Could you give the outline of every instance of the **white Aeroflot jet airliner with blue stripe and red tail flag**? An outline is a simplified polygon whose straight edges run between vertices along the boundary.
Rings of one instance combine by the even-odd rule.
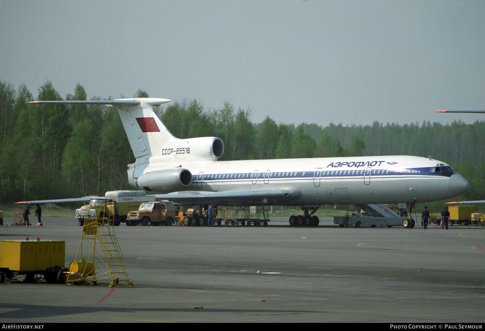
[[[136,158],[135,163],[128,165],[129,184],[184,205],[301,206],[307,220],[325,204],[407,203],[412,206],[415,202],[459,196],[470,188],[450,165],[430,157],[218,161],[224,152],[220,138],[178,139],[165,127],[153,106],[170,101],[130,98],[32,101],[31,104],[101,104],[118,109]],[[313,209],[311,213],[310,209]],[[294,222],[290,218],[290,224]]]

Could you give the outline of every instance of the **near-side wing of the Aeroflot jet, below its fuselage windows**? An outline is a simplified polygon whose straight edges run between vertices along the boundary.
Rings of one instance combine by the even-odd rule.
[[[247,191],[183,191],[169,194],[157,194],[157,198],[170,200],[181,204],[226,204],[231,202],[247,202],[251,204],[271,204],[273,199],[288,198],[294,199],[300,196],[300,192],[291,188],[272,188]]]

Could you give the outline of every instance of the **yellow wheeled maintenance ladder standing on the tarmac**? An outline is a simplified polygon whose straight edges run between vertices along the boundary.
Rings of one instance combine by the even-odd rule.
[[[93,213],[92,210],[95,212]],[[74,262],[69,265],[66,283],[110,279],[110,287],[116,285],[133,286],[123,264],[123,253],[114,234],[113,202],[89,207],[82,227],[81,244]],[[89,215],[96,214],[95,217]],[[83,249],[84,248],[84,249]],[[89,253],[86,255],[87,251]],[[102,255],[100,252],[102,252]],[[96,273],[95,261],[101,261],[108,271]],[[125,284],[120,284],[125,282]]]

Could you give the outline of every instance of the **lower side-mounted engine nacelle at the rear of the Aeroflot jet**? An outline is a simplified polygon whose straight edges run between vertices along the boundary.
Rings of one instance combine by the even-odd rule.
[[[155,170],[138,177],[135,184],[138,188],[150,192],[180,191],[192,184],[192,173],[181,168]]]

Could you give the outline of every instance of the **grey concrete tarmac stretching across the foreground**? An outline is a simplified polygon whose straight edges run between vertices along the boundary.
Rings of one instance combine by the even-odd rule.
[[[4,224],[10,224],[5,219]],[[0,240],[81,242],[72,218]],[[0,284],[0,322],[484,322],[485,227],[115,227],[133,287]],[[100,271],[106,269],[97,264]]]

